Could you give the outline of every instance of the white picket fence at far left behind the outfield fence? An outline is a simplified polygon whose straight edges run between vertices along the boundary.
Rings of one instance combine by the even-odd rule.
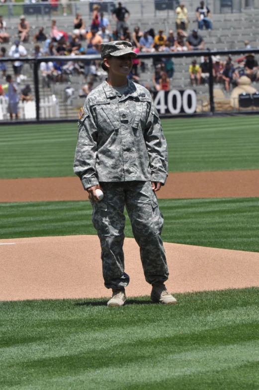
[[[19,101],[20,119],[36,119],[35,101]],[[59,102],[55,95],[40,99],[40,118],[59,118]],[[0,96],[0,120],[9,119],[8,98]]]

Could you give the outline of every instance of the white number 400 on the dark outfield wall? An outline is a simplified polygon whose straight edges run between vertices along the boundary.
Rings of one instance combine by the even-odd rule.
[[[172,90],[154,92],[154,105],[159,114],[193,114],[196,111],[197,97],[193,90]]]

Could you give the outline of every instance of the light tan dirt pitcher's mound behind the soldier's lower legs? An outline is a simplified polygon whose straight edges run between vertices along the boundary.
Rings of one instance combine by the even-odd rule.
[[[170,292],[259,286],[259,253],[165,243]],[[102,280],[97,236],[0,240],[0,300],[110,296]],[[146,295],[139,248],[124,243],[128,296]]]

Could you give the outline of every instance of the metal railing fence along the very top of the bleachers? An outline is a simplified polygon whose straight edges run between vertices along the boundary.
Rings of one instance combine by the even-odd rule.
[[[170,16],[173,14],[175,7],[179,4],[179,0],[124,0],[123,5],[136,17],[148,16]],[[211,12],[216,13],[230,13],[241,12],[243,8],[258,8],[257,0],[207,0],[206,4],[211,9]],[[101,1],[69,1],[66,8],[68,15],[75,15],[81,12],[84,16],[90,17],[92,4],[99,3],[103,12],[110,13],[110,11],[117,6],[117,1],[101,0]],[[185,0],[184,4],[190,14],[193,14],[196,7],[200,4],[200,0]],[[59,0],[49,1],[25,1],[12,2],[6,0],[0,4],[0,14],[4,17],[17,18],[21,14],[26,17],[34,17],[36,19],[49,19],[52,16],[63,15],[63,6]]]

